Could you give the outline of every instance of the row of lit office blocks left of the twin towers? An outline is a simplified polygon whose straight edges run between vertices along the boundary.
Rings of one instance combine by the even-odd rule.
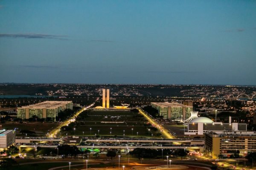
[[[53,118],[66,109],[73,109],[72,101],[46,101],[35,105],[18,108],[17,118],[29,119],[32,116],[38,118]]]

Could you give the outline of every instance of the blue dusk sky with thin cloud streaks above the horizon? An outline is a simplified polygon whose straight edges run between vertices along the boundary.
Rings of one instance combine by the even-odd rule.
[[[256,85],[256,0],[0,0],[0,82]]]

